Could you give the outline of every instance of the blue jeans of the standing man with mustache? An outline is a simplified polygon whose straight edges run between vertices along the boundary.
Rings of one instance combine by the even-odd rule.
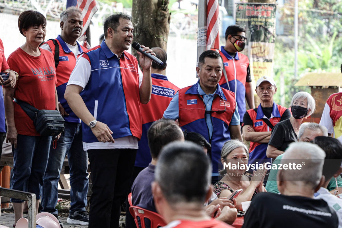
[[[57,141],[56,149],[53,149],[51,144],[48,166],[43,178],[42,212],[58,214],[58,210],[55,209],[58,180],[66,155],[70,167],[70,213],[86,210],[88,154],[82,146],[81,124],[65,122],[64,135]]]

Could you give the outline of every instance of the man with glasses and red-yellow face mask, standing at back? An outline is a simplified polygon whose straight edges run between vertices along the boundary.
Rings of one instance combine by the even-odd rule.
[[[226,44],[221,46],[220,55],[223,58],[223,72],[219,84],[235,93],[236,103],[242,117],[246,112],[246,102],[249,108],[254,108],[252,78],[248,57],[241,52],[247,42],[246,29],[239,25],[231,25],[226,29]],[[228,80],[228,83],[227,83]]]

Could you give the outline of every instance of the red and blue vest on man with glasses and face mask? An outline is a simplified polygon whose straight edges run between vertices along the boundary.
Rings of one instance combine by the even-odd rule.
[[[242,117],[244,117],[246,112],[246,78],[249,60],[246,55],[240,52],[237,52],[233,58],[223,49],[223,46],[221,46],[221,51],[219,53],[223,58],[223,67],[227,72],[230,91],[235,93],[240,122],[242,122]],[[219,84],[222,88],[228,90],[223,72]]]

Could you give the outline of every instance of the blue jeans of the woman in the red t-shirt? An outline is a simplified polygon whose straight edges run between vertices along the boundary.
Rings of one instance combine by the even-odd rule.
[[[11,189],[32,192],[36,199],[40,199],[52,136],[17,137],[17,148],[13,151],[13,176]],[[23,200],[11,199],[11,202],[20,203]]]

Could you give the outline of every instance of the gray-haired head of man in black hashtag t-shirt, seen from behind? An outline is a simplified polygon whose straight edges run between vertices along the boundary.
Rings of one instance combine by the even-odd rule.
[[[291,143],[281,159],[281,164],[289,161],[302,164],[301,169],[283,169],[279,171],[278,180],[292,181],[295,185],[308,185],[315,189],[322,177],[325,152],[316,144],[307,142]],[[301,159],[301,160],[299,160]]]

